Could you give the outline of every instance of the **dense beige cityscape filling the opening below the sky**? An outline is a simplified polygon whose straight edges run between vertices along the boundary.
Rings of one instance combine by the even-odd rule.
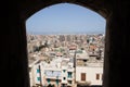
[[[104,40],[104,34],[28,34],[30,87],[102,87]]]

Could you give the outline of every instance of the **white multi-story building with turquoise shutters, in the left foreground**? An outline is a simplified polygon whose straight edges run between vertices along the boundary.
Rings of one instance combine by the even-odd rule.
[[[73,87],[75,84],[73,61],[68,58],[55,58],[50,64],[39,60],[29,69],[31,87],[50,84],[55,87]]]

